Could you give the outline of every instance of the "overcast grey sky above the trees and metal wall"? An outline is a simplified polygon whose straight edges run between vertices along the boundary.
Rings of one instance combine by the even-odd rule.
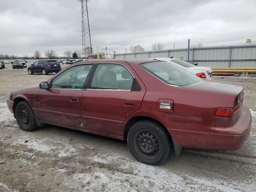
[[[81,50],[78,0],[0,0],[0,54]],[[244,44],[256,40],[256,0],[90,0],[92,46],[129,52],[131,44],[151,50]]]

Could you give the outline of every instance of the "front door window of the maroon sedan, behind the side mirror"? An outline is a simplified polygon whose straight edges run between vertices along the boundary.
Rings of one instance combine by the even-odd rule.
[[[92,64],[69,68],[52,80],[51,88],[84,89],[84,83],[91,68]]]

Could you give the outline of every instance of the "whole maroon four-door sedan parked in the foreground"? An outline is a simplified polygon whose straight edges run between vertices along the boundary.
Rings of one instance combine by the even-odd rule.
[[[127,140],[133,156],[150,165],[182,148],[241,148],[252,124],[242,102],[240,86],[148,59],[72,64],[7,101],[25,131],[52,124]]]

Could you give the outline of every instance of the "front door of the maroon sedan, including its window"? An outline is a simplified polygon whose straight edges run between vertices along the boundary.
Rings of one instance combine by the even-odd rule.
[[[50,83],[49,89],[38,93],[37,107],[42,120],[71,127],[79,127],[81,99],[92,64],[68,68]]]

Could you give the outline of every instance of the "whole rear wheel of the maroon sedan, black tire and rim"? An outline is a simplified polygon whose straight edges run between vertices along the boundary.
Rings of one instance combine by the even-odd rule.
[[[165,162],[172,147],[168,132],[158,123],[149,120],[136,122],[130,128],[127,143],[132,155],[149,165]]]

